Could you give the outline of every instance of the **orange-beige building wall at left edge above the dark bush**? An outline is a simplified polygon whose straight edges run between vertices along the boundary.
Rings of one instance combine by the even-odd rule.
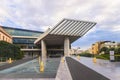
[[[12,37],[0,27],[0,41],[12,43]]]

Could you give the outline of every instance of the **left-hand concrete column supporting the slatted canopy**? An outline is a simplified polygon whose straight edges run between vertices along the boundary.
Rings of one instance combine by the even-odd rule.
[[[47,48],[44,40],[41,40],[41,53],[42,61],[44,62],[47,58]]]

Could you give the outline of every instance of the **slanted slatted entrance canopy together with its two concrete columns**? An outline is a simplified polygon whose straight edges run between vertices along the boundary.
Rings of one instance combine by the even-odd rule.
[[[52,29],[44,32],[34,43],[41,46],[42,59],[47,57],[49,50],[61,50],[64,56],[69,56],[71,44],[95,25],[95,22],[63,19]]]

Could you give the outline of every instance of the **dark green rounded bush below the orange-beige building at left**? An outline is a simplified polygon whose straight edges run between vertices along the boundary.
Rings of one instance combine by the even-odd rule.
[[[7,57],[12,59],[21,59],[24,54],[20,51],[20,48],[14,44],[10,44],[5,41],[0,41],[0,57]]]

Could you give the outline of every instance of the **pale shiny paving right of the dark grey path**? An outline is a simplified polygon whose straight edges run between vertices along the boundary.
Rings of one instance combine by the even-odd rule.
[[[72,58],[108,77],[110,80],[120,80],[120,62],[110,62],[109,60],[97,59],[97,62],[93,63],[92,58],[80,57],[80,60],[76,57]]]

